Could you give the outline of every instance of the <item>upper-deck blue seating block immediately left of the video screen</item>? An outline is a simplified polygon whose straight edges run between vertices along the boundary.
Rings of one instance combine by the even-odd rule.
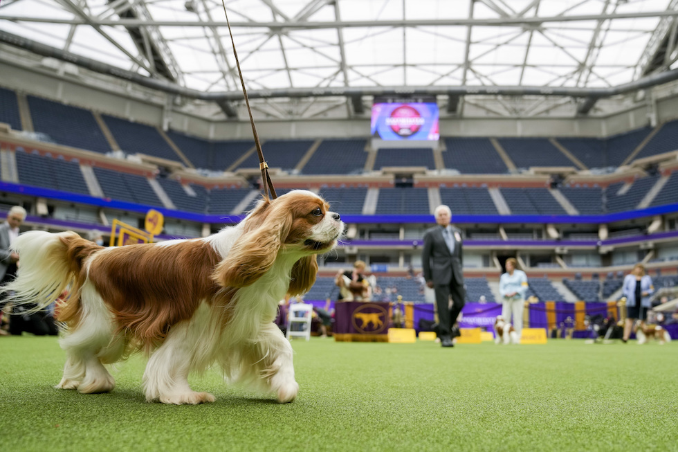
[[[323,140],[302,168],[303,174],[356,174],[363,171],[365,140]]]

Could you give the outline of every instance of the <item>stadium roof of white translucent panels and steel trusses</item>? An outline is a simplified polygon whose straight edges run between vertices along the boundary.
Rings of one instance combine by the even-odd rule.
[[[450,116],[605,115],[678,79],[678,0],[225,6],[259,118],[363,117],[379,95],[437,96]],[[207,116],[243,104],[221,0],[1,0],[0,50]]]

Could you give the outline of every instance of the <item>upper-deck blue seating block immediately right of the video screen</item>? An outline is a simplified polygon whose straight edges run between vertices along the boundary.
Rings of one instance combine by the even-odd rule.
[[[461,174],[504,174],[506,163],[497,154],[489,138],[445,138],[445,168]]]

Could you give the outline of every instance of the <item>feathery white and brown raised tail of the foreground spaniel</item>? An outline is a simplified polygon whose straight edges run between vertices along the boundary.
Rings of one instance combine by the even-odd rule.
[[[86,258],[100,249],[102,246],[71,231],[52,234],[32,230],[21,234],[12,244],[12,250],[19,254],[17,278],[1,287],[0,293],[14,305],[30,304],[29,311],[39,311],[68,288],[70,304],[73,297],[79,298],[86,278]]]

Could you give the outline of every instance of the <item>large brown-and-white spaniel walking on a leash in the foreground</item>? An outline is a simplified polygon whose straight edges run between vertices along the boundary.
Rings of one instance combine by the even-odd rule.
[[[306,190],[259,201],[237,226],[201,239],[104,248],[73,232],[34,230],[13,244],[17,278],[2,289],[16,303],[55,302],[66,324],[62,381],[56,388],[109,392],[107,364],[141,350],[147,401],[201,404],[208,392],[191,372],[219,365],[226,381],[252,383],[295,399],[292,347],[273,323],[286,293],[306,293],[316,255],[337,244],[344,224]]]

